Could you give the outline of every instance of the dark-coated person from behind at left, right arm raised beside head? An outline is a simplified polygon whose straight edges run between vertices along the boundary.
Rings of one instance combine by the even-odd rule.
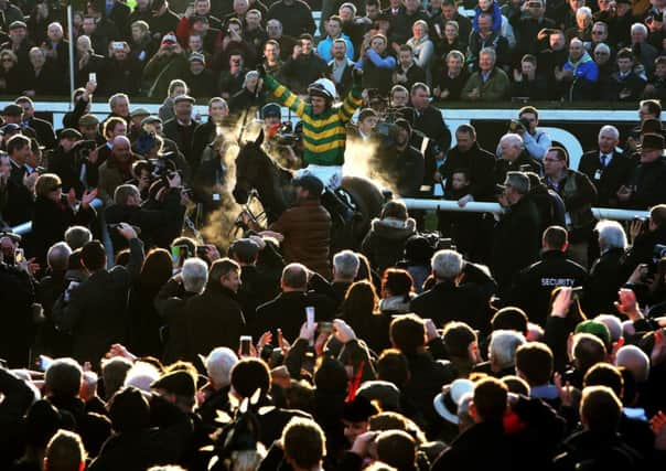
[[[72,356],[79,363],[96,364],[114,343],[125,343],[127,339],[129,289],[143,264],[143,245],[129,224],[119,224],[117,231],[129,243],[128,265],[107,270],[104,246],[99,240],[88,242],[80,253],[88,279],[76,288],[67,288],[60,314],[54,309],[58,328],[73,334]]]

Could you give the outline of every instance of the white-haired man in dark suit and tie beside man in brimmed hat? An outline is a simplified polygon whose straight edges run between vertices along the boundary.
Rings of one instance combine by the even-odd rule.
[[[583,153],[578,171],[588,175],[597,188],[597,204],[617,207],[617,190],[629,183],[634,162],[617,151],[620,132],[606,125],[599,131],[599,150]]]

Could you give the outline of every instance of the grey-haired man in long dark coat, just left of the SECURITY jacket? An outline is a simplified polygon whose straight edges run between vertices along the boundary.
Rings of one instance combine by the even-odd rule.
[[[508,295],[512,277],[539,257],[539,212],[529,199],[529,178],[522,172],[507,172],[500,204],[509,208],[493,235],[491,269],[498,291]]]

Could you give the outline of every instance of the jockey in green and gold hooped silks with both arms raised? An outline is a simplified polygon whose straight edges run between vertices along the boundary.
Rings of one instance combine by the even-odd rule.
[[[301,100],[270,74],[265,74],[265,87],[278,103],[289,107],[303,122],[303,161],[305,168],[297,176],[310,173],[319,178],[330,190],[342,183],[342,165],[346,146],[346,122],[361,106],[361,71],[354,71],[353,86],[341,105],[334,105],[335,85],[320,78],[308,87],[310,104]]]

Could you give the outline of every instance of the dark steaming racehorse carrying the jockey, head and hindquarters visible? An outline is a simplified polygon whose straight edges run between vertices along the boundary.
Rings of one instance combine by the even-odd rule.
[[[255,141],[247,141],[236,157],[236,185],[233,194],[238,204],[246,204],[253,191],[264,206],[268,224],[280,217],[296,200],[291,185],[293,172],[278,164],[261,148],[264,131]],[[357,217],[345,223],[345,227],[335,227],[332,234],[332,248],[357,248],[369,229],[370,222],[382,211],[384,195],[369,180],[358,176],[345,176],[342,189],[355,206]]]

